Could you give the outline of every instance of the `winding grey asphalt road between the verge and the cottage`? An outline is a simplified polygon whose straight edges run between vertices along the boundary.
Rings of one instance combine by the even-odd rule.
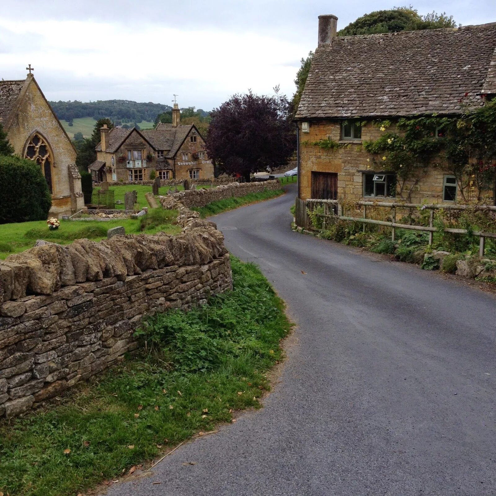
[[[292,232],[289,189],[212,219],[298,324],[264,408],[108,494],[494,496],[494,296]]]

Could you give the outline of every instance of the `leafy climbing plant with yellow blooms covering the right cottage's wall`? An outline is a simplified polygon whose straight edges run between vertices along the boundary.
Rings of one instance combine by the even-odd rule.
[[[433,165],[455,176],[464,202],[488,200],[485,194],[496,181],[496,101],[457,117],[402,118],[396,124],[398,132],[388,130],[390,121],[372,124],[382,134],[363,142],[373,155],[369,167],[396,173],[400,196],[410,198],[427,166]]]

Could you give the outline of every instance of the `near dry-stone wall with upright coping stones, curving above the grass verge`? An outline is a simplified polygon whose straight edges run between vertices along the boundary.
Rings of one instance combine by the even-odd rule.
[[[183,232],[46,244],[0,261],[0,417],[18,416],[134,350],[143,316],[232,288],[213,222],[176,201]]]

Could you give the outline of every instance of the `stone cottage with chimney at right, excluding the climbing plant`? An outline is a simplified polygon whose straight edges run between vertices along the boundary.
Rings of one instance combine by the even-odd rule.
[[[336,16],[319,16],[318,47],[296,113],[299,197],[456,201],[456,178],[442,167],[425,164],[400,191],[396,174],[371,162],[362,143],[380,136],[377,121],[388,120],[390,131],[402,117],[455,117],[491,99],[496,23],[345,37],[336,31]],[[438,129],[431,135],[443,137]]]

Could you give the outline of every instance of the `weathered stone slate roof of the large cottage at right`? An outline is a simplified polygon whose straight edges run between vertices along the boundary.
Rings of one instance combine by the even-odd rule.
[[[457,114],[494,92],[496,23],[336,37],[315,50],[296,119]]]

